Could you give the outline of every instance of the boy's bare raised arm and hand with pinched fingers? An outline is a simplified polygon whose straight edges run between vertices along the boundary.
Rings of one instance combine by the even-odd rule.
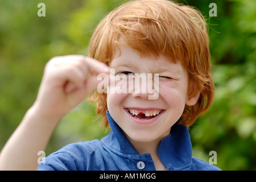
[[[89,57],[54,57],[47,63],[37,99],[0,154],[0,170],[36,170],[38,151],[45,150],[61,118],[97,89],[97,76],[109,73]]]

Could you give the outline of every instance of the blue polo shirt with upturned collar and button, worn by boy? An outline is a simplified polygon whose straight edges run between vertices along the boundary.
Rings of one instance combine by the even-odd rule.
[[[138,154],[107,111],[111,131],[101,140],[69,144],[47,156],[38,170],[155,170],[150,154]],[[189,131],[175,124],[163,138],[158,155],[167,170],[219,170],[192,156]]]

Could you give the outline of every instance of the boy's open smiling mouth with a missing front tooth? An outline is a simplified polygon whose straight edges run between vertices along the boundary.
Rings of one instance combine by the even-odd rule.
[[[149,109],[149,110],[139,110],[127,108],[130,115],[134,118],[139,118],[142,120],[151,119],[157,117],[163,110],[162,109]]]

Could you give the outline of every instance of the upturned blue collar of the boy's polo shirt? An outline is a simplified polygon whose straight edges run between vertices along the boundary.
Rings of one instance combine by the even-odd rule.
[[[106,111],[107,119],[111,127],[108,143],[115,150],[127,155],[139,155],[130,141],[125,137],[121,128]],[[167,167],[180,169],[190,164],[192,158],[192,146],[189,130],[186,126],[175,123],[171,127],[170,134],[161,140],[158,147],[158,155],[162,163]]]

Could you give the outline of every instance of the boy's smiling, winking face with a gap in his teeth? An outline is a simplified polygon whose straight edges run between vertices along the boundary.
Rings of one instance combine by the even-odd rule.
[[[138,90],[133,93],[107,93],[109,113],[129,140],[161,140],[169,135],[171,126],[181,117],[185,104],[194,105],[196,102],[187,97],[186,69],[180,61],[174,64],[164,56],[158,59],[154,56],[141,57],[129,46],[121,46],[120,51],[116,49],[110,64],[110,68],[115,69],[115,75],[159,73],[159,94],[157,99],[149,100],[149,92],[138,93]],[[141,83],[139,91],[145,89],[143,86],[146,87],[146,84]]]

